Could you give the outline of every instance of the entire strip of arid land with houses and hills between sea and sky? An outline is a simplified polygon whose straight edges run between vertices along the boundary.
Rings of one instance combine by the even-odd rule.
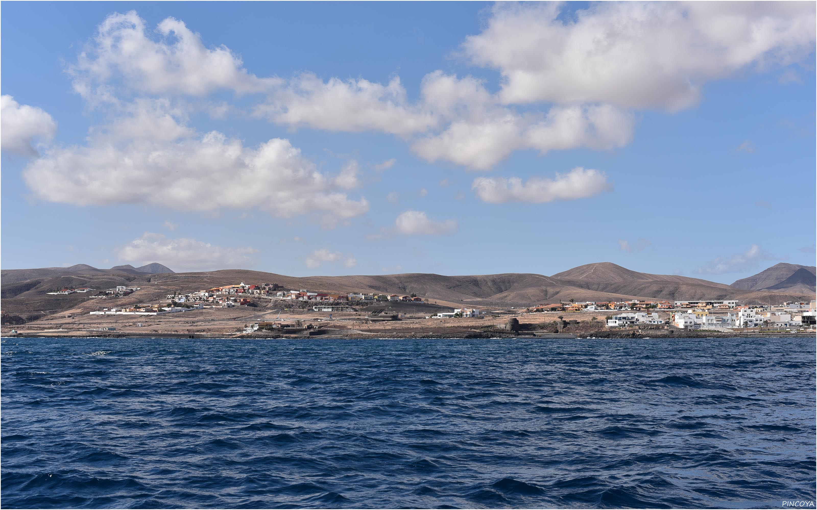
[[[89,268],[80,269],[96,270]],[[556,297],[538,303],[525,301],[528,290],[512,299],[507,295],[500,299],[477,297],[483,285],[481,278],[488,279],[486,295],[496,288],[509,288],[507,282],[494,277],[425,279],[424,275],[406,275],[408,278],[364,277],[361,282],[315,277],[293,282],[291,277],[272,273],[241,271],[235,276],[208,276],[167,272],[135,278],[119,274],[55,277],[51,286],[39,284],[38,295],[47,299],[32,294],[30,311],[24,304],[21,316],[3,313],[4,332],[14,327],[13,334],[19,335],[66,335],[71,331],[80,335],[102,332],[209,338],[803,335],[815,331],[817,315],[810,297],[814,273],[792,264],[778,264],[752,277],[757,281],[748,279],[747,283],[763,287],[789,282],[796,290],[789,294],[770,291],[747,295],[739,286],[732,293],[724,289],[728,286],[694,281],[681,282],[681,291],[663,293],[671,296],[663,299],[637,297],[636,293],[638,286],[660,292],[664,282],[660,275],[635,273],[632,277],[631,271],[615,264],[589,264],[556,275],[564,278],[564,283],[555,286]],[[573,286],[588,274],[595,274],[600,282],[632,282],[627,285],[633,288],[627,294],[617,294]],[[410,282],[412,279],[416,282]],[[523,289],[535,288],[538,283],[535,279],[528,282],[525,275],[515,275],[514,279]],[[69,282],[75,286],[65,286]],[[31,294],[25,288],[30,284],[19,285],[20,290],[15,291]],[[673,281],[672,286],[676,285]],[[718,294],[720,299],[679,299],[687,290],[688,295]],[[532,295],[550,291],[537,290]],[[605,299],[593,299],[594,293]]]

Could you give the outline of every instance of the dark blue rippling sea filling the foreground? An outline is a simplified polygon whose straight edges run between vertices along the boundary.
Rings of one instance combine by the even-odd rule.
[[[815,500],[813,338],[3,339],[0,370],[2,508]]]

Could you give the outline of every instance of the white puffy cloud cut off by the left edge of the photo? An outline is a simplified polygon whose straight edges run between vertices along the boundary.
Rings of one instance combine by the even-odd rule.
[[[56,122],[43,109],[20,104],[11,95],[0,97],[0,147],[4,153],[37,156],[34,140],[51,140]]]

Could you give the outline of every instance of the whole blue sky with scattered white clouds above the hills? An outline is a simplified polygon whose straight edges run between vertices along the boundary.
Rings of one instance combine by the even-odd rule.
[[[3,268],[815,263],[813,3],[2,14]]]

